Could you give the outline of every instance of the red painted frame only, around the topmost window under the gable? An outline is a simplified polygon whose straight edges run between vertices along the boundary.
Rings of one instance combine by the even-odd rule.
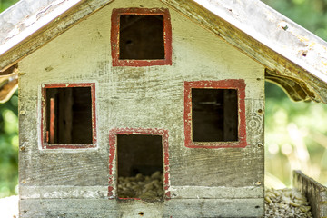
[[[119,28],[120,15],[163,15],[164,59],[154,60],[120,60]],[[112,13],[111,53],[113,66],[151,66],[172,64],[172,25],[169,10],[166,8],[117,8]]]

